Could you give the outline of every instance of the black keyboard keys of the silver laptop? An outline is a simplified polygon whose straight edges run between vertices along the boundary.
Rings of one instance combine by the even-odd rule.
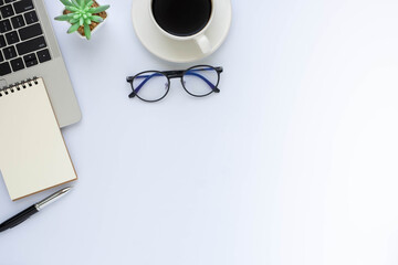
[[[32,0],[0,0],[0,76],[49,60]]]

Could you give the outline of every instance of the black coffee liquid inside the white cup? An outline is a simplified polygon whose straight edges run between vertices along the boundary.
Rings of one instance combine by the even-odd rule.
[[[153,0],[153,13],[158,25],[177,36],[201,31],[211,15],[211,0]]]

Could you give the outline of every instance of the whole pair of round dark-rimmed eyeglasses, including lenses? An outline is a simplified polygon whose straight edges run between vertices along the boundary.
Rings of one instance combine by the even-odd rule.
[[[184,89],[191,96],[208,96],[220,92],[218,85],[221,73],[222,67],[210,65],[197,65],[180,71],[146,71],[127,77],[133,89],[128,97],[137,96],[148,103],[158,102],[169,92],[171,78],[181,78]]]

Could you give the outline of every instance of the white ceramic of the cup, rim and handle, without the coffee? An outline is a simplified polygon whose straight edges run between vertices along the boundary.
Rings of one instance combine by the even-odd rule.
[[[189,0],[187,0],[189,1]],[[195,41],[196,44],[199,46],[200,51],[202,52],[202,54],[208,54],[212,51],[212,45],[209,41],[209,38],[206,35],[207,30],[211,26],[211,22],[213,21],[213,17],[214,17],[214,8],[216,4],[213,4],[213,1],[217,0],[210,0],[211,1],[211,13],[210,13],[210,18],[207,22],[207,24],[205,25],[203,29],[201,29],[199,32],[192,34],[192,35],[187,35],[187,36],[179,36],[179,35],[174,35],[167,31],[165,31],[156,21],[155,17],[154,17],[154,12],[153,12],[153,0],[150,0],[150,4],[149,4],[149,15],[151,21],[154,22],[155,26],[158,29],[158,31],[164,34],[165,36],[171,39],[171,40],[176,40],[176,41],[181,41],[181,42],[186,42],[186,41]]]

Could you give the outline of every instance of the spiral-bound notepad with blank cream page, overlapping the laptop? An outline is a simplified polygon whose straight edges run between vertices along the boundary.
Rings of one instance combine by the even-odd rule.
[[[0,171],[11,200],[77,178],[42,78],[0,89]]]

